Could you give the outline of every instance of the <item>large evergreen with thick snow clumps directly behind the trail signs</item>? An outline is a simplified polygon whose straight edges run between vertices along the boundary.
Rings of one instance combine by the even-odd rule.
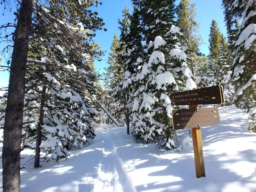
[[[148,44],[146,52],[151,54],[144,63],[142,60],[137,63],[139,85],[134,90],[132,133],[137,140],[154,141],[158,147],[173,149],[176,132],[172,129],[173,106],[168,95],[196,88],[185,62],[186,48],[179,43],[182,34],[173,25],[174,1],[133,3],[145,12],[141,14],[143,33]]]

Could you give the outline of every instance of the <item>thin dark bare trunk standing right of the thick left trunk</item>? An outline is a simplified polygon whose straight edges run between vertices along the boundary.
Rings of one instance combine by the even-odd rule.
[[[44,106],[45,106],[45,91],[46,87],[43,85],[42,88],[42,94],[41,94],[41,105],[40,105],[40,113],[39,113],[39,123],[37,125],[37,137],[36,137],[36,154],[35,154],[35,167],[40,167],[40,145],[41,145],[41,140],[42,140],[42,125],[43,125],[43,120],[44,120]]]

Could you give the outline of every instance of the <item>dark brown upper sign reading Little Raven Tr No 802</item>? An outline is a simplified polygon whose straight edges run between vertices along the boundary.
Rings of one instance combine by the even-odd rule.
[[[172,105],[200,105],[224,103],[223,88],[216,85],[170,94]]]

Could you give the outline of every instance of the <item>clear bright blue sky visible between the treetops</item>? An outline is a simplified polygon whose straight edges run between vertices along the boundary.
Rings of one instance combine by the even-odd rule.
[[[114,33],[116,33],[118,36],[120,35],[117,20],[118,18],[122,18],[122,9],[124,8],[125,4],[127,4],[128,8],[130,8],[130,12],[132,13],[132,3],[130,0],[101,0],[101,2],[101,6],[95,8],[93,7],[92,10],[97,11],[99,16],[103,18],[106,24],[105,28],[107,28],[108,31],[97,31],[94,41],[101,46],[101,50],[109,52]],[[176,4],[179,4],[179,2],[180,0],[177,0]],[[199,34],[202,36],[205,42],[205,44],[200,47],[200,50],[202,53],[208,55],[208,38],[212,19],[216,20],[221,33],[226,36],[226,27],[223,22],[224,16],[223,10],[221,9],[221,0],[190,0],[190,2],[196,3],[196,21],[201,23]],[[9,20],[12,20],[13,18],[11,15],[3,16],[2,10],[3,6],[0,6],[0,25],[10,22]],[[3,48],[4,44],[0,44],[1,51]],[[108,60],[108,57],[109,55],[105,54],[105,56],[102,57],[102,61],[95,61],[94,65],[100,72],[104,72],[103,68],[108,66],[107,61],[104,61]],[[1,65],[6,65],[5,61],[2,61]],[[0,86],[7,86],[8,80],[8,72],[0,72]],[[2,93],[0,92],[0,94]]]

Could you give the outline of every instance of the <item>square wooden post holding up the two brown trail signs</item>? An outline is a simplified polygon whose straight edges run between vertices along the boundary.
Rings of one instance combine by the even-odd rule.
[[[195,108],[197,108],[197,105],[189,105],[189,109]],[[191,128],[191,130],[195,157],[196,177],[205,177],[205,163],[203,155],[201,129],[200,127],[193,127]]]

